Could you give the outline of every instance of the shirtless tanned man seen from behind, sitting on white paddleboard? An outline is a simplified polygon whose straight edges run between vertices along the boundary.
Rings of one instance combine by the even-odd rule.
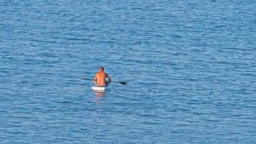
[[[109,81],[106,81],[106,77]],[[99,87],[107,87],[111,83],[111,78],[104,72],[104,67],[99,68],[99,72],[96,73],[94,78],[94,84]]]

